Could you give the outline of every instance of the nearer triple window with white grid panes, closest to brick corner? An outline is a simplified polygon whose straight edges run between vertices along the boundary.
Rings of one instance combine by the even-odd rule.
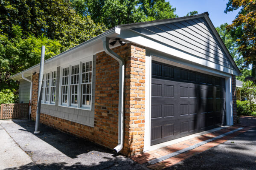
[[[92,67],[93,62],[87,61],[61,68],[60,105],[82,109],[91,108]]]

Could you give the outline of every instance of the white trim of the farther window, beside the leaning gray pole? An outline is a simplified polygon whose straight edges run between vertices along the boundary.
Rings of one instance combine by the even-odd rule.
[[[55,70],[48,70],[48,71],[45,71],[44,72],[44,79],[43,79],[43,83],[44,83],[44,89],[43,89],[43,91],[44,91],[44,96],[43,96],[43,99],[41,99],[41,104],[45,104],[45,105],[55,105],[55,102],[51,102],[51,97],[52,97],[52,72],[54,72],[54,71],[56,71],[56,69]],[[45,91],[45,85],[46,85],[46,74],[50,74],[49,75],[49,99],[48,99],[48,102],[47,101],[45,101],[45,95],[46,95],[46,91]],[[57,71],[56,71],[56,81],[57,81]],[[56,83],[55,83],[55,87],[56,87]],[[56,100],[56,89],[55,89],[55,100]]]

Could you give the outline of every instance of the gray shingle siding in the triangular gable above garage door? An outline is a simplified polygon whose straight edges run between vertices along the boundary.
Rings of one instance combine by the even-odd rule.
[[[186,53],[234,69],[204,18],[134,28],[141,34]]]

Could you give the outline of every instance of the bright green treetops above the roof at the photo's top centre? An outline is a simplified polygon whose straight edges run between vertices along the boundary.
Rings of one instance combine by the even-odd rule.
[[[177,17],[176,8],[165,0],[71,0],[71,3],[78,14],[90,16],[107,28]]]

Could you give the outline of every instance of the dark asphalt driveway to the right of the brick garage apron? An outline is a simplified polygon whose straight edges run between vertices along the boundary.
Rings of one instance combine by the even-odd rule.
[[[254,127],[223,144],[166,169],[256,170],[256,117],[241,116],[239,125]]]

